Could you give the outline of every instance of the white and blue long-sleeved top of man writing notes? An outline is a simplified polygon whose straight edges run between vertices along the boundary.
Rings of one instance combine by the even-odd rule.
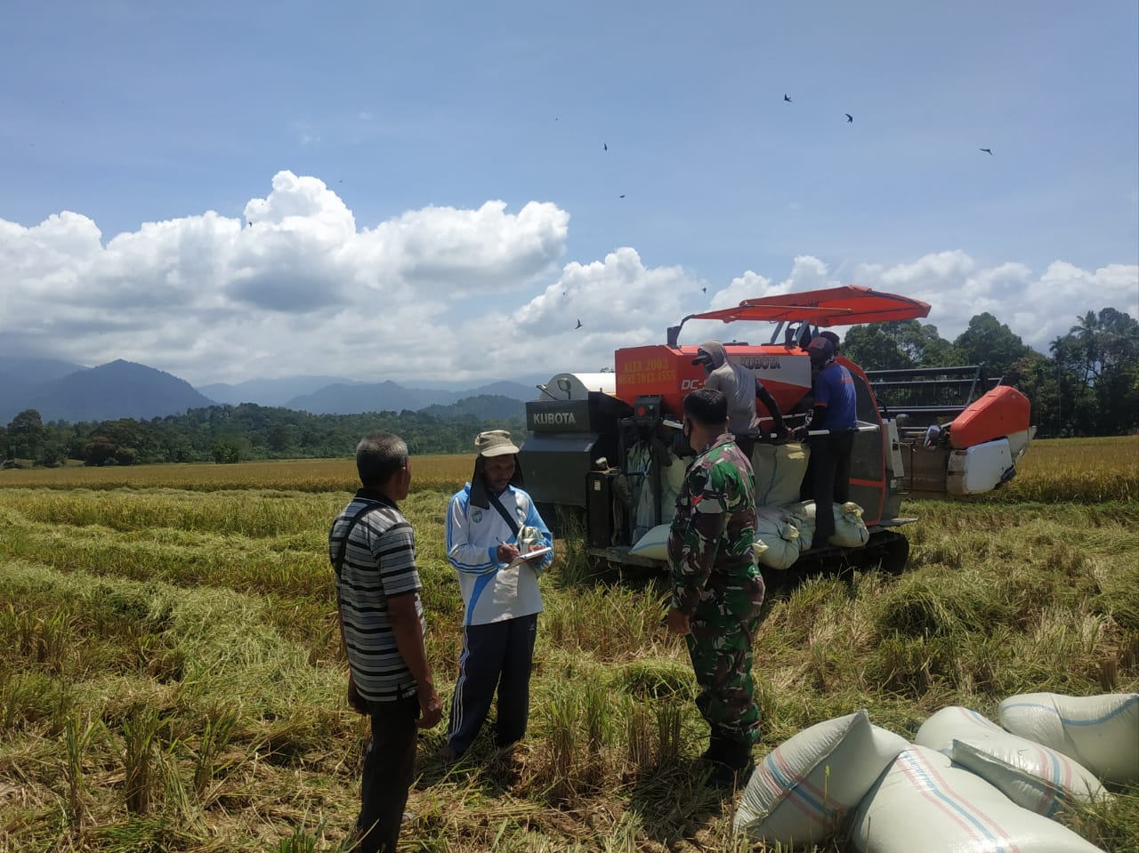
[[[542,542],[552,548],[554,536],[526,492],[507,486],[498,499],[507,512],[514,512],[519,528],[536,527]],[[451,498],[446,514],[446,558],[459,573],[459,589],[466,605],[465,625],[485,625],[542,612],[538,574],[528,565],[508,568],[508,564],[499,563],[495,552],[500,542],[517,544],[518,540],[493,506],[484,509],[470,503],[470,483],[467,483]],[[550,551],[539,567],[544,569],[552,561]]]

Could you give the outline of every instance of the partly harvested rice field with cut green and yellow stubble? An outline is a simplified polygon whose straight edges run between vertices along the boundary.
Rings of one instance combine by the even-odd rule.
[[[461,602],[443,514],[470,464],[413,459],[404,505],[444,699]],[[0,471],[0,852],[342,848],[366,725],[325,538],[352,489],[351,460]],[[1016,692],[1139,690],[1139,438],[1036,442],[1009,489],[904,511],[903,575],[770,597],[761,753],[862,707],[911,737],[950,704],[992,719]],[[699,781],[663,587],[558,551],[518,764],[483,740],[444,772],[428,732],[401,850],[751,850]],[[1113,793],[1062,819],[1139,850],[1139,786]]]

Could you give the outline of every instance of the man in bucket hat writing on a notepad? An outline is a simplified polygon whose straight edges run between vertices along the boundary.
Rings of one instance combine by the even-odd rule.
[[[526,733],[530,670],[542,596],[538,576],[554,559],[554,538],[522,489],[518,448],[505,429],[480,433],[470,482],[446,515],[446,558],[459,575],[465,606],[459,679],[446,745],[454,761],[482,729],[498,690],[494,745]],[[540,550],[541,549],[541,550]],[[538,556],[526,559],[524,555]]]

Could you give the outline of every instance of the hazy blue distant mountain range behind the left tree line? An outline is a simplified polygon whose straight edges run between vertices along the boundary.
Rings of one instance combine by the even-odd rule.
[[[130,361],[95,368],[50,359],[0,356],[0,426],[35,409],[44,421],[69,423],[180,415],[214,403],[256,403],[313,415],[426,410],[440,418],[475,415],[514,418],[534,399],[532,386],[498,382],[467,389],[410,388],[394,382],[353,383],[337,377],[252,379],[194,388],[185,379]]]

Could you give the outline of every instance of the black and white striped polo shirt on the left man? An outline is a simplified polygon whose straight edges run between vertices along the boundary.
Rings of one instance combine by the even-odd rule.
[[[413,695],[416,680],[395,645],[388,596],[415,594],[416,614],[426,631],[415,532],[391,500],[361,489],[333,523],[328,556],[335,568],[349,524],[369,506],[349,533],[344,563],[336,575],[336,596],[357,690],[370,702],[392,702]]]

